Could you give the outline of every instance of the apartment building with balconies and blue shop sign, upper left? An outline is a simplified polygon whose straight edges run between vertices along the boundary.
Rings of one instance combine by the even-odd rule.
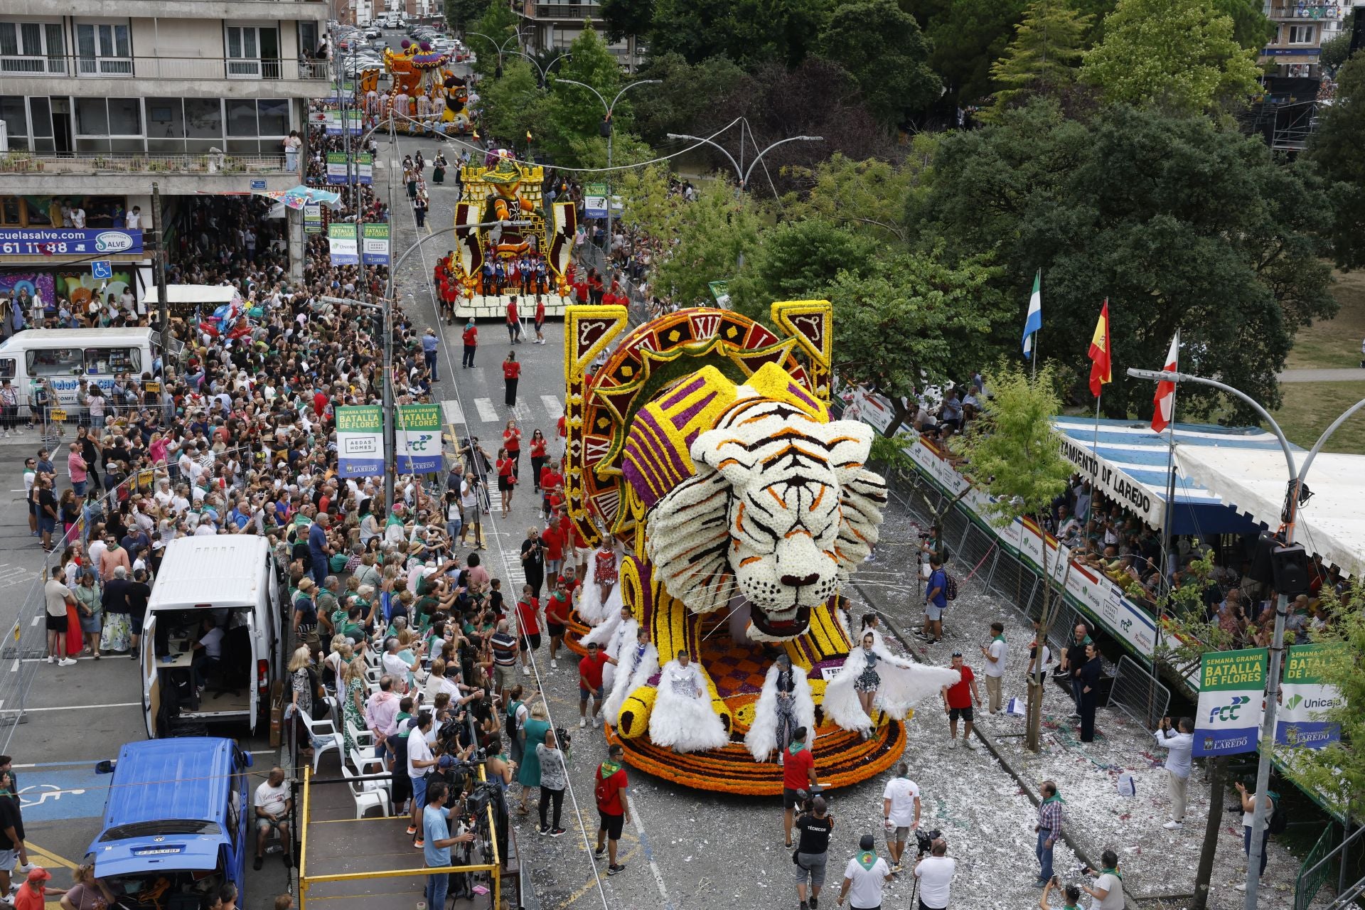
[[[329,0],[7,4],[0,295],[12,266],[97,254],[130,271],[147,265],[143,235],[160,226],[153,181],[169,233],[206,199],[296,186],[283,142],[306,132],[308,101],[330,93],[325,49],[317,56],[329,10]],[[63,207],[83,210],[85,226],[63,222]]]

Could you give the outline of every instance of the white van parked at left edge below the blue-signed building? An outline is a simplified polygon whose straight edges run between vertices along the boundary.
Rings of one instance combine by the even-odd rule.
[[[52,379],[57,401],[72,407],[81,379],[108,394],[117,374],[152,372],[153,336],[152,329],[27,329],[0,345],[0,379],[18,389],[20,405],[31,378]]]

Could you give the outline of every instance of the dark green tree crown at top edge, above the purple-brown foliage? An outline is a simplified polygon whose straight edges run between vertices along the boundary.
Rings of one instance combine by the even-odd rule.
[[[830,7],[830,0],[655,0],[650,53],[794,67],[811,52]]]

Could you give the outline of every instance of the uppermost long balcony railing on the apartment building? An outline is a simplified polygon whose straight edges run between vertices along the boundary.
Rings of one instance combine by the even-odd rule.
[[[90,57],[0,56],[3,76],[67,76],[76,79],[303,79],[329,78],[326,60],[258,57]]]

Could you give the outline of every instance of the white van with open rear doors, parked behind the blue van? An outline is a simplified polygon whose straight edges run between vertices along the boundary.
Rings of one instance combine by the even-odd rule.
[[[283,578],[269,542],[257,535],[177,538],[167,544],[142,625],[142,709],[147,735],[180,722],[244,722],[253,731],[270,709],[270,686],[285,675]],[[195,686],[194,644],[222,630],[222,660]]]

